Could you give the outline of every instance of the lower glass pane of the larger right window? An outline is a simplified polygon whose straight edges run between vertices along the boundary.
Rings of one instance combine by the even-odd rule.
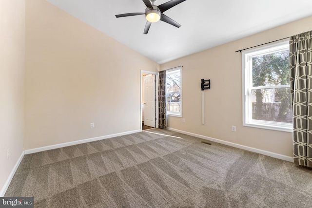
[[[253,119],[292,123],[290,88],[252,90]]]

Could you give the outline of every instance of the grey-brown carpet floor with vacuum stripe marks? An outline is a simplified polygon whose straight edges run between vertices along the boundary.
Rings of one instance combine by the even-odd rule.
[[[36,208],[311,208],[312,170],[152,129],[27,154],[5,196]]]

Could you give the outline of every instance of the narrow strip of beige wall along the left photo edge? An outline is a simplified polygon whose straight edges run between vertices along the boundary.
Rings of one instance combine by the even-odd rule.
[[[25,1],[0,1],[0,188],[23,152]],[[10,157],[7,158],[7,149]]]

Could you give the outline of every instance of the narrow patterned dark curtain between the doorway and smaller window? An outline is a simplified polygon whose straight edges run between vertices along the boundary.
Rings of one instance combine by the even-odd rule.
[[[166,71],[159,72],[158,89],[159,109],[158,109],[158,128],[166,128]]]

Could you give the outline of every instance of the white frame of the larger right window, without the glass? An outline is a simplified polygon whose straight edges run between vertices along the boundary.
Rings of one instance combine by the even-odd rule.
[[[290,85],[273,85],[253,87],[252,58],[280,51],[289,50],[289,41],[282,41],[268,46],[242,52],[242,97],[243,97],[243,126],[269,129],[282,132],[292,132],[292,123],[264,121],[252,118],[252,90],[290,88]]]

